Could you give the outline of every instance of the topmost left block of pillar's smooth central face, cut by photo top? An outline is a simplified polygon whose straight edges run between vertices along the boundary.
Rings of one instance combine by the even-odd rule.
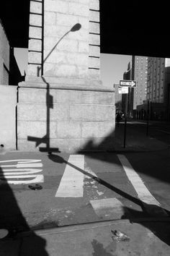
[[[68,2],[61,0],[46,0],[44,9],[48,12],[68,13]]]

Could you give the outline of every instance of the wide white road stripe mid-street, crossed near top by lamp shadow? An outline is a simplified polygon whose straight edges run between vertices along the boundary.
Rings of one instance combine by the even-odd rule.
[[[83,197],[84,174],[69,163],[84,170],[84,155],[70,155],[55,197]]]

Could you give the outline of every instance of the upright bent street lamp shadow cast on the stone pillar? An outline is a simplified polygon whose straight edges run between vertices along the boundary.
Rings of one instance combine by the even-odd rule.
[[[45,63],[45,61],[47,61],[48,57],[50,56],[50,54],[52,54],[52,52],[55,50],[56,46],[58,46],[58,43],[61,42],[61,40],[68,35],[68,33],[70,32],[76,32],[78,30],[81,29],[81,24],[76,23],[76,25],[73,25],[73,27],[71,27],[71,30],[69,30],[68,32],[66,32],[61,38],[60,40],[58,40],[57,43],[55,43],[55,46],[53,46],[53,48],[51,49],[51,51],[49,52],[48,56],[45,57],[44,61],[42,62],[42,67],[37,67],[37,77],[40,76],[40,70],[42,69],[43,71],[43,64]],[[43,72],[42,72],[43,74]],[[47,85],[46,86],[46,105],[47,105],[47,116],[46,116],[46,123],[47,123],[47,127],[46,127],[46,135],[42,138],[39,137],[32,137],[32,136],[27,136],[27,140],[29,141],[34,141],[36,142],[35,147],[37,148],[38,145],[40,145],[41,143],[45,143],[46,144],[46,148],[40,148],[40,151],[45,151],[45,152],[53,152],[53,151],[59,151],[58,148],[50,148],[50,108],[53,108],[53,95],[50,95],[50,85],[49,83],[45,80],[45,77],[41,76],[42,81]]]

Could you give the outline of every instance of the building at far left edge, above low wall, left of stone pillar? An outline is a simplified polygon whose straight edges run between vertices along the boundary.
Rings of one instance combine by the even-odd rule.
[[[0,85],[18,85],[22,75],[14,57],[14,48],[10,46],[0,20]]]

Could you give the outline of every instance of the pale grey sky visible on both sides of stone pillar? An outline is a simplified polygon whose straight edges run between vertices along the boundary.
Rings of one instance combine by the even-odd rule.
[[[14,56],[21,74],[24,75],[24,71],[27,74],[27,48],[14,48]],[[112,88],[114,84],[119,83],[131,59],[132,56],[130,55],[100,54],[101,80],[103,85]]]

